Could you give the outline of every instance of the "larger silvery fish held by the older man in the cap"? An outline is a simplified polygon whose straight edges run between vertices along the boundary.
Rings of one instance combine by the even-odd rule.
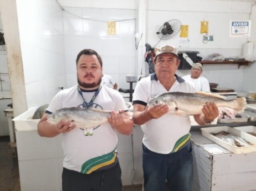
[[[224,99],[222,96],[205,93],[166,92],[148,102],[149,107],[168,105],[170,114],[196,115],[202,113],[206,102],[213,102],[217,107],[228,107],[238,112],[244,111],[246,98]]]

